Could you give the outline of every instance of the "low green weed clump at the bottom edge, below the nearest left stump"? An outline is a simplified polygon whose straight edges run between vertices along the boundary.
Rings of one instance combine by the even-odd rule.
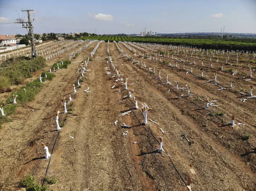
[[[21,182],[21,185],[26,188],[26,191],[47,191],[48,186],[41,186],[38,182],[35,182],[35,178],[32,175],[28,175]]]

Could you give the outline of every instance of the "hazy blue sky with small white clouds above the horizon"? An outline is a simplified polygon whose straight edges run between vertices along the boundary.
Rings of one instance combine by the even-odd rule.
[[[256,0],[0,0],[0,34],[27,34],[21,9],[37,34],[256,33]]]

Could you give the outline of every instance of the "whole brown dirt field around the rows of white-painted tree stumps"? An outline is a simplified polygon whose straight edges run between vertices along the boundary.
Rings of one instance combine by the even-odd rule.
[[[120,54],[114,43],[109,43],[113,64],[123,75],[123,81],[128,78],[128,89],[133,90],[139,107],[146,103],[151,108],[148,120],[160,124],[149,121],[148,125],[142,125],[143,115],[139,109],[119,116],[120,112],[129,111],[135,105],[132,98],[122,99],[128,91],[124,89],[124,83],[115,81],[118,77],[112,77],[116,71],[110,62],[107,63],[108,43],[99,45],[86,68],[89,71],[84,74],[81,88],[73,93],[72,84],[79,75],[77,70],[96,44],[91,44],[76,59],[70,59],[72,63],[68,68],[56,72],[56,77],[49,82],[52,87],[47,82],[34,101],[26,107],[18,107],[17,114],[10,116],[12,122],[2,125],[1,190],[18,190],[27,174],[32,174],[41,183],[46,175],[57,177],[57,183],[50,186],[54,191],[186,191],[188,176],[192,178],[193,191],[255,190],[256,98],[240,101],[248,97],[240,92],[246,94],[250,84],[255,89],[255,72],[250,81],[245,81],[249,79],[243,78],[249,75],[245,66],[239,68],[244,75],[238,76],[218,71],[220,63],[209,67],[209,60],[204,61],[204,66],[196,60],[194,72],[185,74],[191,68],[188,63],[185,63],[185,69],[182,69],[183,63],[178,63],[177,68],[168,66],[169,61],[175,65],[181,55],[175,56],[177,60],[162,56],[166,62],[161,63],[141,56],[145,51],[138,47],[127,44],[136,49],[134,54],[118,43],[124,53],[136,61],[140,59],[140,63],[143,61],[151,68],[155,67],[153,74],[148,67]],[[143,48],[149,51],[150,47]],[[64,58],[69,58],[68,54],[48,60],[47,65],[52,66]],[[224,56],[218,59],[225,61]],[[201,68],[207,76],[205,79],[200,77]],[[160,79],[157,70],[161,71]],[[111,74],[107,75],[107,71]],[[219,91],[218,86],[211,85],[216,71],[218,85],[226,90]],[[165,83],[166,74],[170,85]],[[205,83],[208,79],[211,82]],[[234,80],[233,88],[227,88],[230,80]],[[193,95],[186,97],[186,89],[175,89],[175,81],[179,82],[179,87],[189,84]],[[88,87],[91,93],[83,91]],[[73,99],[67,105],[70,112],[59,115],[63,128],[55,131],[56,113],[64,111],[61,98],[68,98],[69,94]],[[204,109],[207,98],[218,100],[216,104],[219,106]],[[221,112],[224,116],[219,115]],[[235,115],[234,127],[229,125],[232,115]],[[239,122],[244,125],[238,125]],[[122,123],[131,128],[122,128]],[[163,134],[160,128],[166,133]],[[128,131],[127,135],[123,135],[125,131]],[[245,138],[247,135],[250,135],[248,139]],[[157,153],[159,136],[163,137],[162,154]],[[41,142],[48,144],[52,152],[50,162],[44,160]]]

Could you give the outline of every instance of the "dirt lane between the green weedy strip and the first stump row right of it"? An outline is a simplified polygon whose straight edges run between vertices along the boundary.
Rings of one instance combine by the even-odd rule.
[[[42,160],[44,150],[41,142],[49,143],[51,151],[57,132],[54,131],[57,110],[63,110],[61,98],[73,90],[76,81],[76,70],[83,61],[82,54],[89,54],[96,46],[93,43],[76,60],[56,72],[52,81],[45,83],[44,89],[35,96],[28,106],[18,107],[12,122],[4,123],[0,131],[0,185],[14,188],[20,178],[26,174],[36,174],[40,169],[46,170],[47,160]],[[86,55],[87,55],[86,54]],[[52,85],[49,86],[49,83]],[[34,111],[32,111],[32,109]],[[40,174],[38,178],[44,177]]]

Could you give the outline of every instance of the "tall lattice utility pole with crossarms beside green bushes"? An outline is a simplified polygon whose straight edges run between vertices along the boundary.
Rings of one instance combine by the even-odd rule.
[[[23,10],[21,10],[23,11]],[[34,39],[34,34],[33,34],[33,25],[31,22],[31,17],[30,17],[30,11],[34,11],[34,10],[24,10],[27,11],[28,13],[28,21],[24,21],[23,19],[19,18],[16,19],[15,23],[22,23],[22,28],[26,28],[29,29],[29,37],[30,37],[30,43],[31,43],[31,56],[32,58],[35,58],[37,56],[36,53],[36,48],[35,48],[35,39]]]

